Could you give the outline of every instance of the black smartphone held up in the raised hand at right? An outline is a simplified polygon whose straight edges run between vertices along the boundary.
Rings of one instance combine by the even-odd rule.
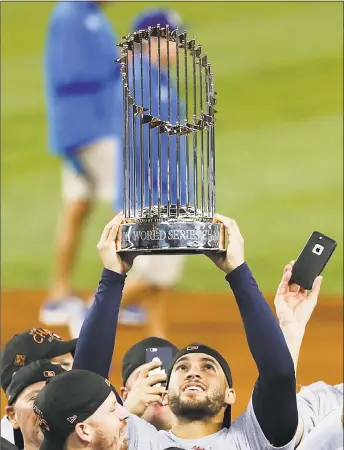
[[[314,231],[293,266],[289,284],[312,289],[314,280],[324,270],[336,246],[335,240]]]

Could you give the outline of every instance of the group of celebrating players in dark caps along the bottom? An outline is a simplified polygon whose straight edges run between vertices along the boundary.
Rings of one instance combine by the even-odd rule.
[[[191,342],[178,349],[162,338],[149,337],[125,354],[122,387],[117,390],[110,384],[123,288],[135,259],[132,253],[117,252],[124,220],[122,214],[116,215],[101,234],[97,248],[104,268],[79,338],[63,341],[33,328],[5,346],[4,448],[342,448],[343,384],[319,381],[296,390],[298,354],[321,276],[307,293],[289,283],[293,262],[286,265],[275,297],[278,322],[245,262],[238,225],[224,216],[217,215],[216,220],[230,238],[227,251],[205,254],[225,274],[258,369],[246,411],[232,422],[236,391],[230,365],[205,343]],[[145,362],[145,351],[152,346],[171,348],[173,361],[167,371],[154,372],[161,367],[160,360]]]

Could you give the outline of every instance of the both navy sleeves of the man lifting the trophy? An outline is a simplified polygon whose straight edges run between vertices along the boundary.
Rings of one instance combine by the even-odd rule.
[[[259,371],[252,395],[253,408],[267,440],[281,447],[292,440],[298,423],[293,361],[283,333],[247,264],[228,274],[226,280],[237,301]],[[108,377],[124,281],[124,275],[103,270],[94,303],[80,332],[73,369]]]

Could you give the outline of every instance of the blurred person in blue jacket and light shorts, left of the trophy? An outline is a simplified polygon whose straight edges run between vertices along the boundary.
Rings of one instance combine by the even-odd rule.
[[[49,150],[62,162],[63,209],[55,270],[40,311],[46,325],[69,324],[76,337],[85,315],[71,275],[82,232],[96,201],[112,203],[120,152],[120,73],[116,36],[101,1],[58,2],[44,54]]]

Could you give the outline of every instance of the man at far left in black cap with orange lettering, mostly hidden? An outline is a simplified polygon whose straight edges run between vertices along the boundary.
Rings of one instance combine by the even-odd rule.
[[[6,393],[14,372],[40,359],[50,359],[53,363],[70,370],[76,342],[76,339],[63,341],[57,334],[43,328],[32,328],[14,335],[1,352],[1,387],[3,391]],[[16,443],[18,447],[22,447],[20,430],[13,431],[7,416],[1,420],[1,436],[13,444]]]

